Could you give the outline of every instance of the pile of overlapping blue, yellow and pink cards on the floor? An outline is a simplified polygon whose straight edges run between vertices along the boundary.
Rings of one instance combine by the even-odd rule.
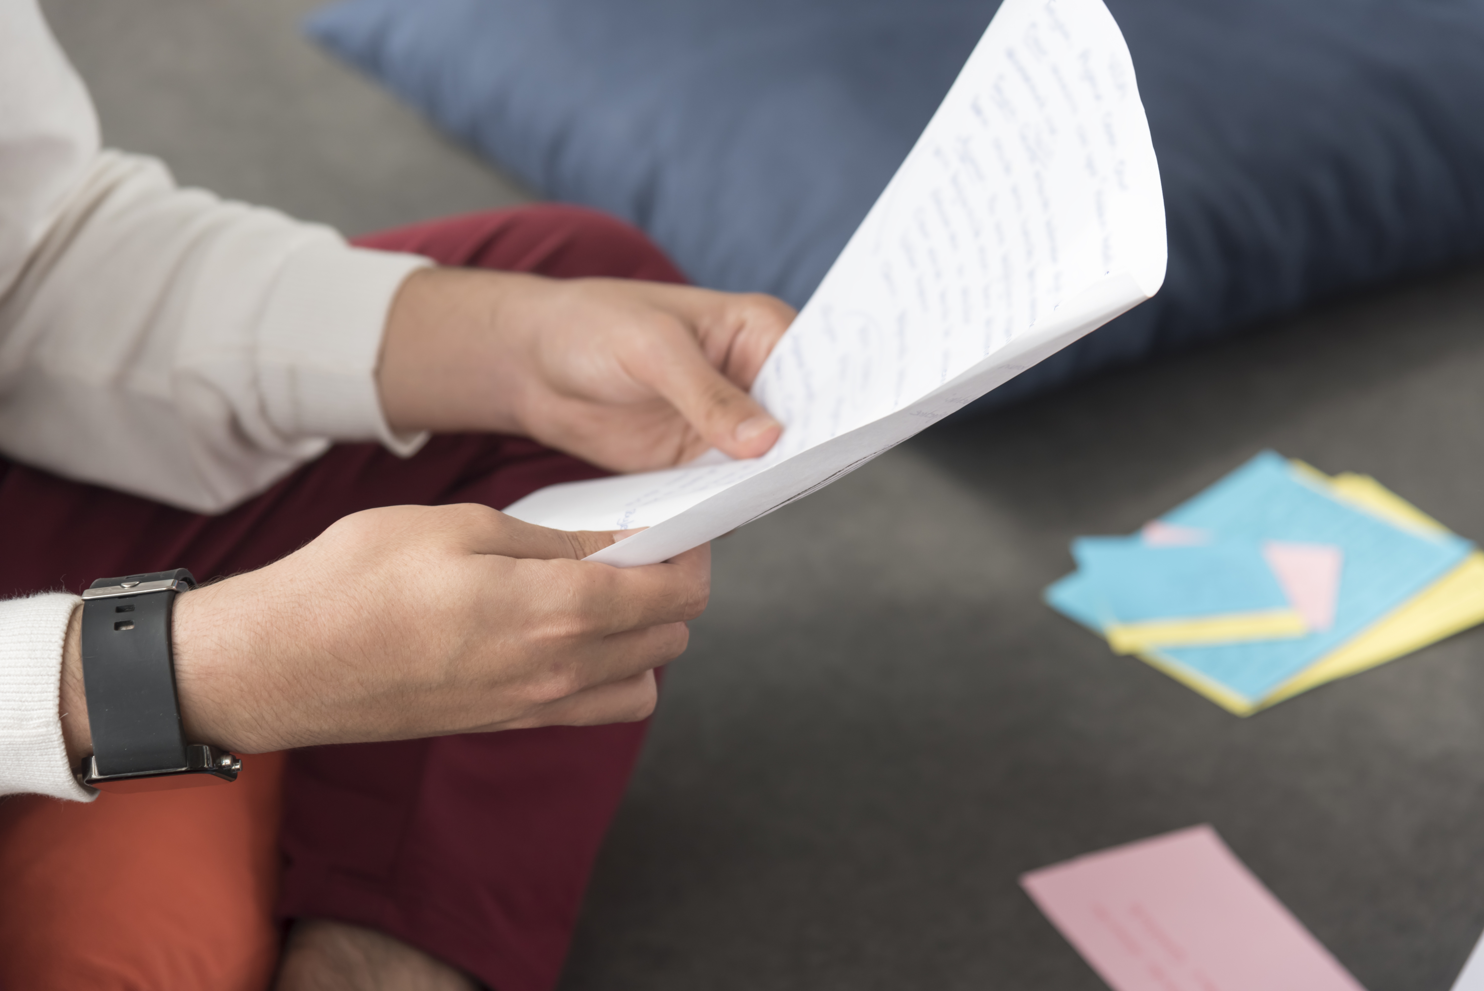
[[[1264,452],[1046,601],[1238,715],[1484,622],[1484,553],[1364,475]]]

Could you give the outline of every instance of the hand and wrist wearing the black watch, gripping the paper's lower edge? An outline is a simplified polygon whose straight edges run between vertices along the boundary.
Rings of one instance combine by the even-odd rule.
[[[686,650],[706,605],[711,550],[582,561],[611,543],[484,506],[346,516],[282,561],[177,598],[187,739],[255,754],[641,720],[653,669]],[[61,700],[74,763],[92,751],[77,629]]]

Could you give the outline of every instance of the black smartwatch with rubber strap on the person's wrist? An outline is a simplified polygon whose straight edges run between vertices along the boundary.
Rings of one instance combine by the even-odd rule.
[[[83,592],[83,693],[93,752],[76,774],[99,791],[233,782],[242,758],[187,743],[175,696],[171,613],[196,587],[186,568],[98,579]]]

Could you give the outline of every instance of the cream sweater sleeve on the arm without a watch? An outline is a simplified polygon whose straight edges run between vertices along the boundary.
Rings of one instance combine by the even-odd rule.
[[[0,7],[0,451],[197,512],[334,441],[413,452],[424,438],[387,426],[375,369],[429,263],[99,150],[34,0]]]

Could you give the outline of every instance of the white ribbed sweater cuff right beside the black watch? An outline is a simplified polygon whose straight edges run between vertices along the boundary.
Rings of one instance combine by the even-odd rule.
[[[93,798],[67,766],[56,712],[62,644],[79,602],[64,592],[0,602],[0,794]]]

